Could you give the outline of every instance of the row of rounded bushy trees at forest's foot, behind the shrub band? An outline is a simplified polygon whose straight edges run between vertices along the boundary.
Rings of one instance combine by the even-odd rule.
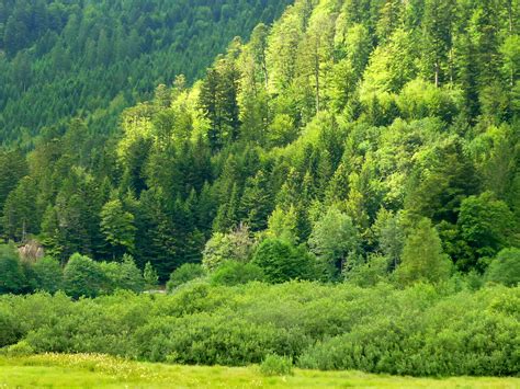
[[[303,248],[294,249],[284,241],[268,239],[247,258],[241,254],[251,248],[237,243],[248,244],[247,241],[237,240],[226,245],[208,244],[211,248],[206,248],[202,265],[184,263],[176,268],[166,283],[166,291],[176,293],[182,285],[196,282],[207,282],[213,286],[237,286],[252,282],[281,284],[292,279],[330,281],[331,266],[316,260]],[[430,252],[406,258],[392,273],[383,256],[373,258],[351,268],[344,281],[363,288],[372,288],[381,283],[403,288],[426,282],[441,287],[446,283],[466,285],[472,290],[489,283],[513,287],[520,282],[519,249],[500,251],[483,275],[475,272],[450,274],[451,266],[446,258],[438,263],[432,260]],[[0,295],[63,291],[79,299],[111,295],[116,290],[154,291],[158,287],[159,276],[151,263],[146,263],[140,271],[128,254],[124,254],[118,262],[98,262],[75,253],[61,264],[50,256],[37,260],[24,258],[12,243],[0,245]]]

